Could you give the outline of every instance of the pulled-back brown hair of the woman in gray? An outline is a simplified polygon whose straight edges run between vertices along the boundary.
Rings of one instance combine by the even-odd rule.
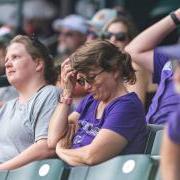
[[[48,84],[55,84],[57,81],[57,72],[54,67],[54,61],[49,50],[44,46],[35,36],[28,37],[24,35],[17,35],[11,41],[13,43],[21,43],[26,47],[27,52],[33,59],[40,58],[44,62],[44,78]]]

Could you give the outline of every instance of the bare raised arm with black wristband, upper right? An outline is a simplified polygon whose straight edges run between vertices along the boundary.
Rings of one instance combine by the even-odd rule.
[[[176,10],[175,14],[180,19],[180,9]],[[175,28],[176,25],[168,15],[140,33],[125,50],[130,53],[135,63],[153,73],[153,49]]]

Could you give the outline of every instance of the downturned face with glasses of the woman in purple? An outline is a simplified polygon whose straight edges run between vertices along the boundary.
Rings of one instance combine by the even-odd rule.
[[[101,101],[107,101],[111,97],[112,88],[117,84],[114,73],[103,69],[96,69],[88,74],[78,73],[77,79],[85,90]]]

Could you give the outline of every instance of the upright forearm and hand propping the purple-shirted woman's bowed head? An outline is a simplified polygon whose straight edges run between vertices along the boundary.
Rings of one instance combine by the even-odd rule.
[[[76,74],[72,70],[69,59],[61,65],[61,81],[63,84],[63,94],[65,99],[72,98],[73,90],[76,84]],[[67,103],[58,103],[55,112],[50,120],[48,130],[48,146],[56,147],[58,141],[68,130],[68,121],[76,122],[79,119],[79,113],[74,112],[69,116],[70,105]]]

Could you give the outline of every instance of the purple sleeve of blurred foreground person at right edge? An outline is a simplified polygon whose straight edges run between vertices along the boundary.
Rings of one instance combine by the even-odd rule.
[[[180,106],[178,111],[170,115],[169,119],[168,135],[173,142],[180,144]]]

